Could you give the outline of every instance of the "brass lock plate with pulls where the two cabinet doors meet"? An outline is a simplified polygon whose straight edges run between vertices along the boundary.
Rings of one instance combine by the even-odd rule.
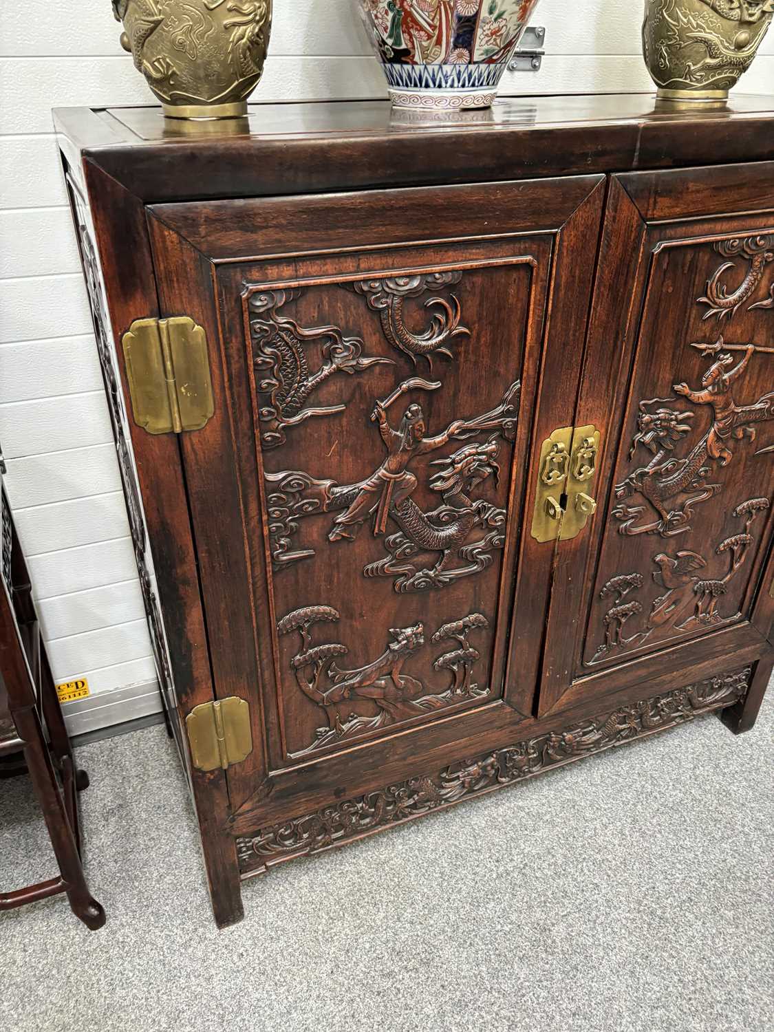
[[[533,514],[537,541],[569,541],[596,511],[591,491],[599,451],[594,426],[562,426],[543,442]]]

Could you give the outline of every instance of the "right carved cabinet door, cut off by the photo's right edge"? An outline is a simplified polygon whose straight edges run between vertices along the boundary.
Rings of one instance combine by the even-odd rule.
[[[774,164],[612,178],[575,423],[600,431],[598,508],[560,545],[539,713],[756,658],[773,602]]]

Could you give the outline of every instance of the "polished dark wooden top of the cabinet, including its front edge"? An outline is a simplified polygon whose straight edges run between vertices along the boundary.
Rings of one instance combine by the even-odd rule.
[[[59,108],[54,118],[71,164],[87,156],[144,200],[774,158],[774,96],[745,94],[716,107],[633,93],[508,97],[464,112],[363,100],[251,104],[245,119],[209,122],[165,119],[156,106]]]

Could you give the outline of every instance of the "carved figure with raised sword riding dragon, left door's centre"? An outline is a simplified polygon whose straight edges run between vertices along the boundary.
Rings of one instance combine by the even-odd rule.
[[[362,480],[338,485],[292,470],[264,475],[276,569],[315,554],[312,549],[294,548],[299,519],[332,512],[337,515],[328,533],[331,543],[354,541],[367,519],[372,519],[375,537],[383,537],[390,522],[397,525],[397,533],[384,538],[387,557],[363,570],[366,577],[396,577],[396,591],[444,587],[491,565],[492,551],[505,545],[506,511],[475,494],[489,478],[497,482],[499,439],[515,439],[520,384],[511,384],[491,411],[473,419],[455,419],[436,436],[427,433],[423,409],[416,401],[405,410],[397,427],[390,424],[387,410],[399,397],[413,390],[438,390],[441,386],[438,381],[415,377],[400,383],[387,398],[376,401],[370,418],[386,455]],[[423,512],[412,498],[418,484],[412,465],[420,456],[461,440],[469,443],[431,460],[430,464],[439,469],[429,486],[441,494],[443,504]],[[432,552],[440,553],[432,567],[413,561],[420,553]]]

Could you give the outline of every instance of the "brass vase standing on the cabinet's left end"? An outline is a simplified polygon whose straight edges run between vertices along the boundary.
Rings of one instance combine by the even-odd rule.
[[[271,0],[112,0],[121,44],[170,118],[235,118],[263,72]]]

